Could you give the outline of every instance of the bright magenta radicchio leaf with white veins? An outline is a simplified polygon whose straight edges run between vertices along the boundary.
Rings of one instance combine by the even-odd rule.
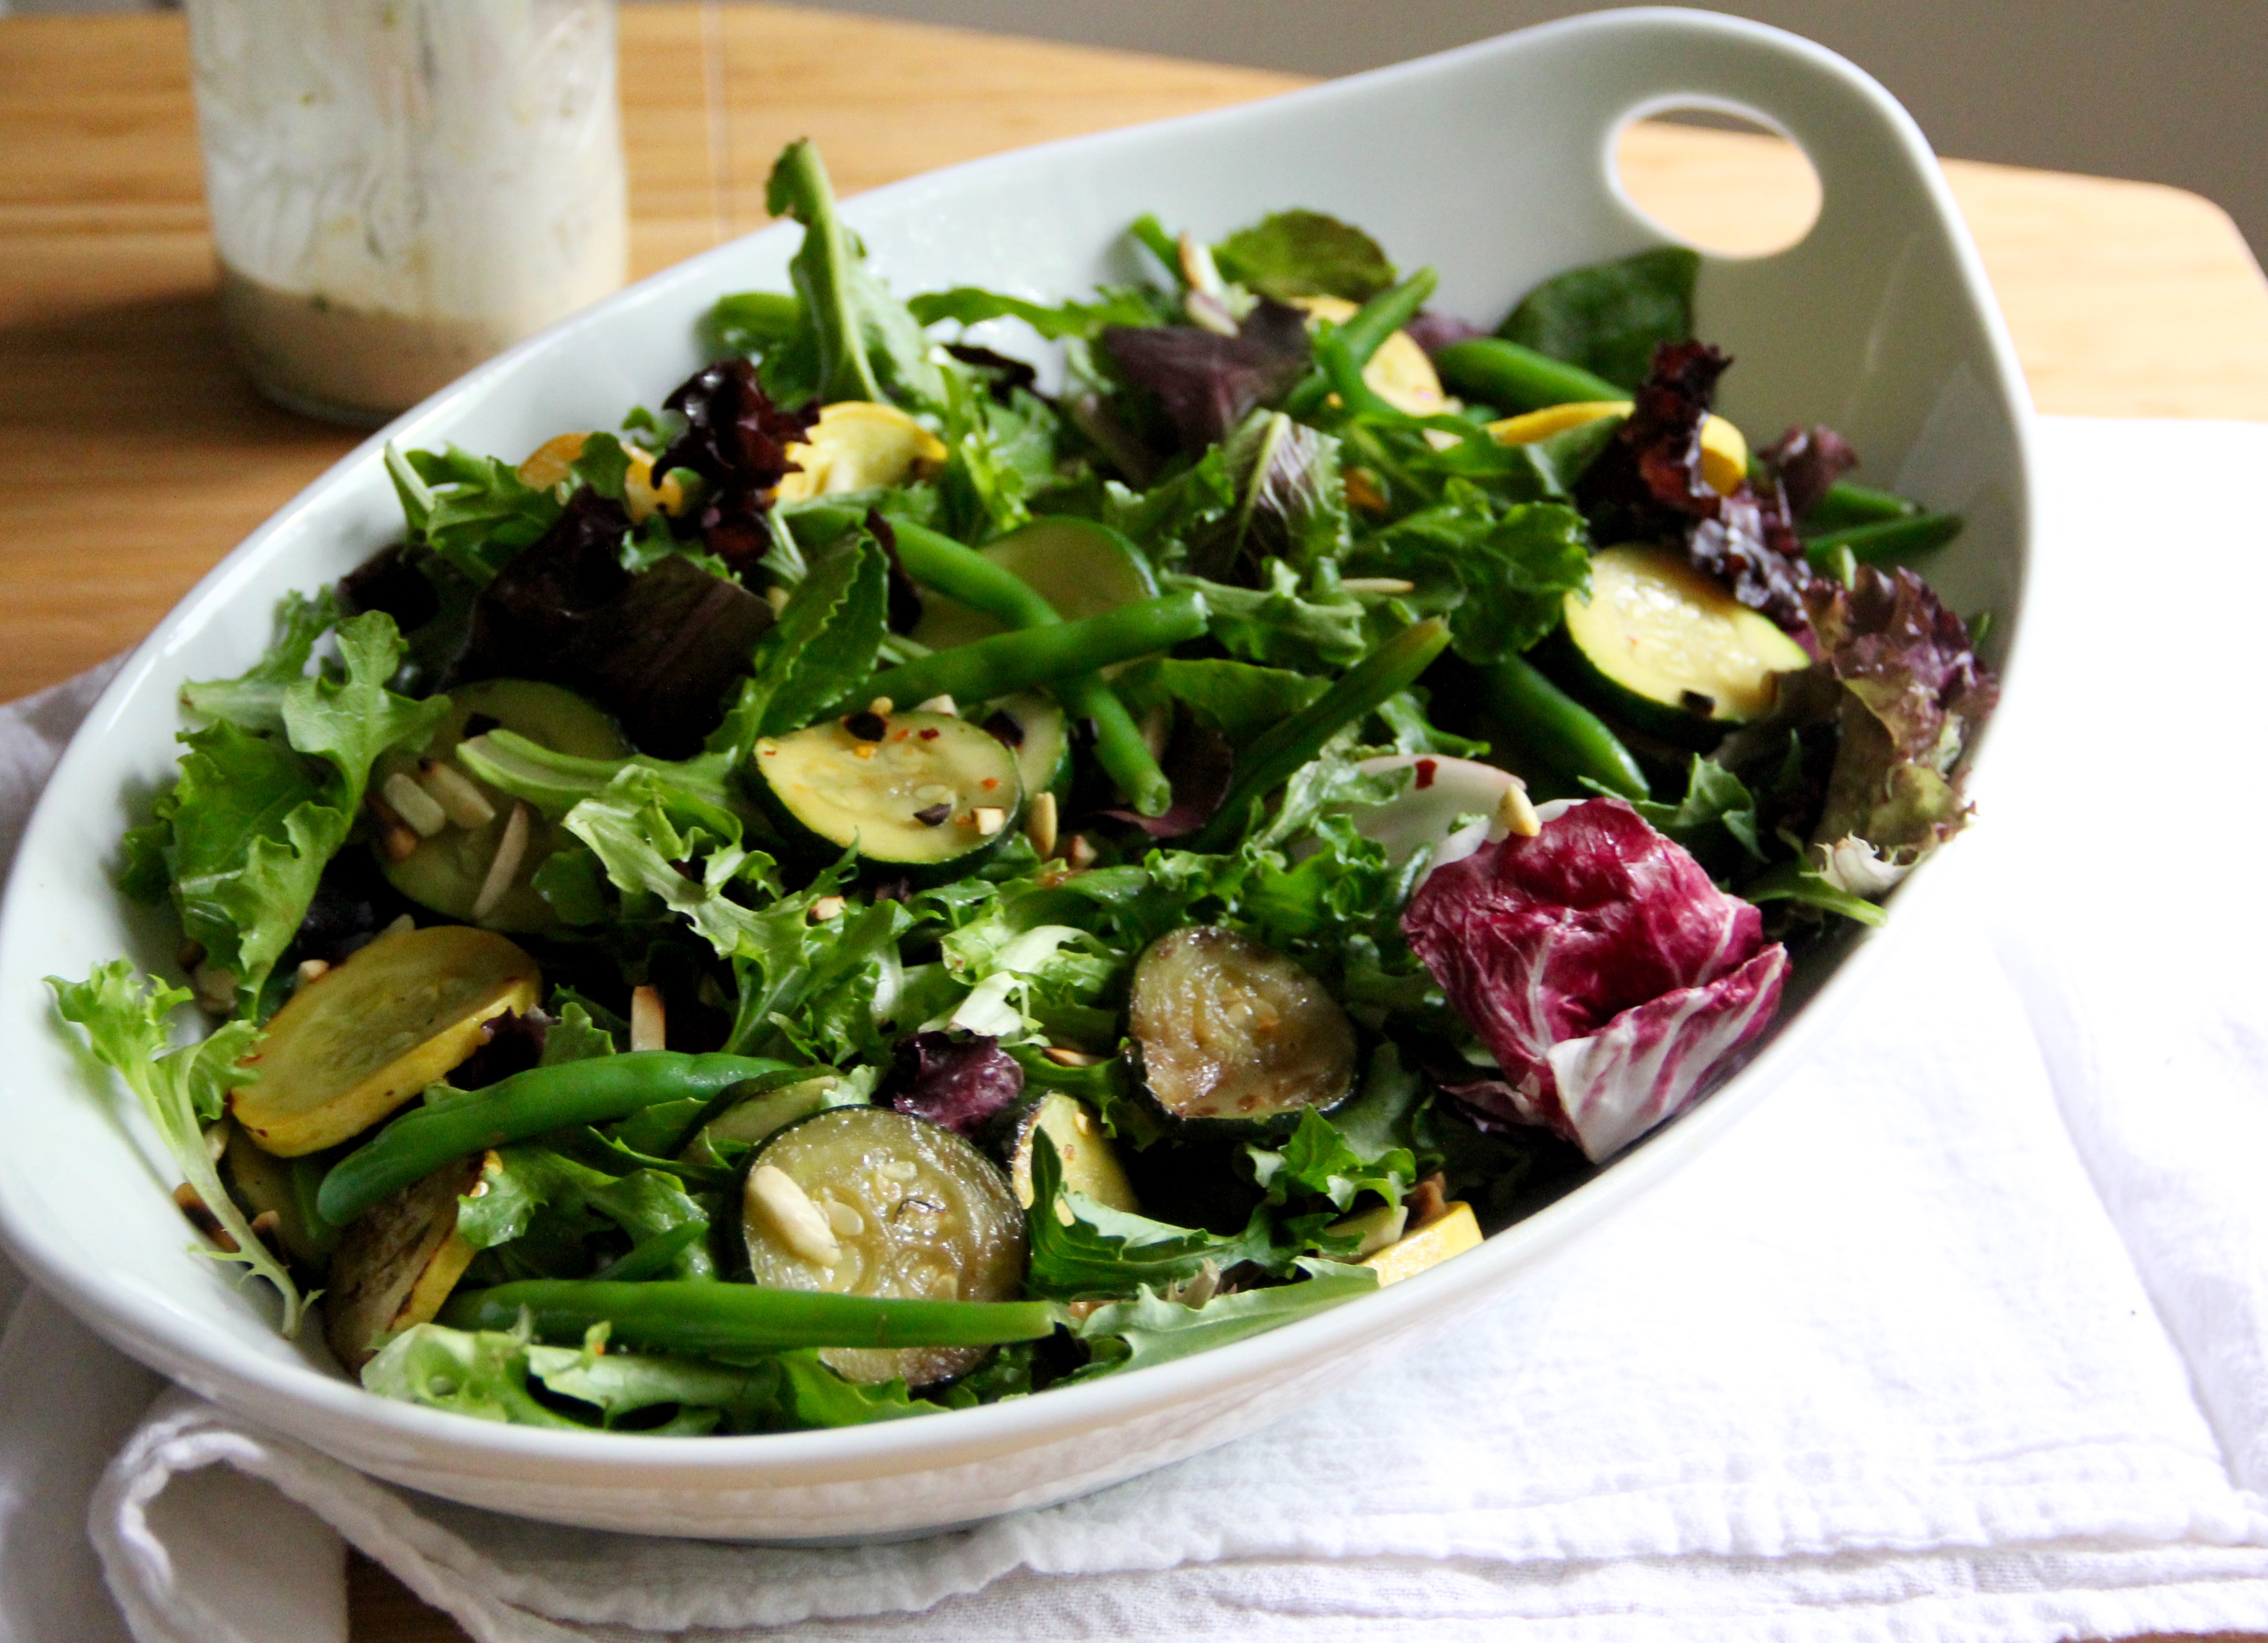
[[[1436,867],[1402,930],[1504,1069],[1449,1094],[1594,1162],[1692,1105],[1787,976],[1762,915],[1622,799]]]

